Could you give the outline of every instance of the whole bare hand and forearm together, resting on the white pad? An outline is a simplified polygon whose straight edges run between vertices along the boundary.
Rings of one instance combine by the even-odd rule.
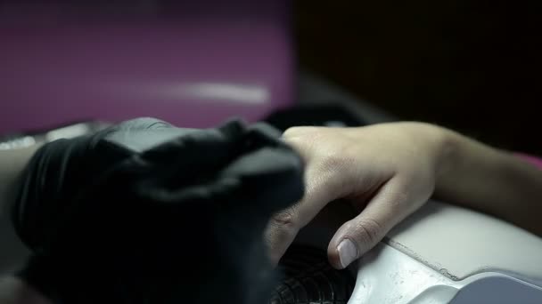
[[[328,246],[345,268],[431,196],[487,212],[542,235],[542,171],[508,152],[422,123],[358,128],[295,127],[283,140],[304,158],[306,195],[268,224],[272,260],[335,199],[357,211]],[[348,242],[342,243],[342,241]]]

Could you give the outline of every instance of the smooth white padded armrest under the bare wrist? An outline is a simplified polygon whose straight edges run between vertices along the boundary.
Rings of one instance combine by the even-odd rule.
[[[430,202],[385,242],[454,280],[498,271],[542,282],[542,238],[457,206]]]

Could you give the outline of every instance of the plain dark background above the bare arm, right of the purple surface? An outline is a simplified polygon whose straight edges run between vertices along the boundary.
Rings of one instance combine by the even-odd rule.
[[[535,1],[295,2],[300,68],[401,119],[542,154]]]

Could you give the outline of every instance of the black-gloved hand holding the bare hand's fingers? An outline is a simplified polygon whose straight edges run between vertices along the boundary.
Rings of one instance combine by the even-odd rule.
[[[45,145],[13,206],[21,276],[56,303],[265,302],[263,229],[303,195],[279,136],[146,118]]]

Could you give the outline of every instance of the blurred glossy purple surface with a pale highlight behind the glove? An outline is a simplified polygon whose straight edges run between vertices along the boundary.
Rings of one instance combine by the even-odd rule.
[[[135,116],[206,127],[289,105],[286,2],[213,2],[0,4],[0,132]]]

